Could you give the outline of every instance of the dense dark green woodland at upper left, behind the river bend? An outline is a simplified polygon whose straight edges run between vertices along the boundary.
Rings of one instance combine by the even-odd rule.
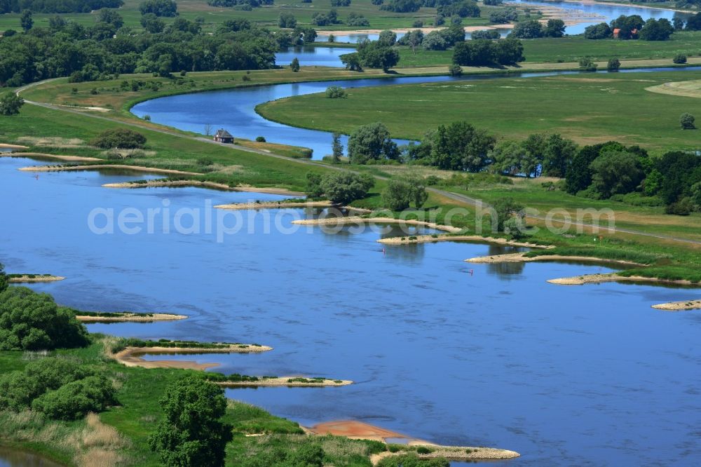
[[[95,81],[115,74],[270,69],[280,47],[316,36],[303,27],[273,33],[243,19],[224,22],[212,35],[184,18],[165,27],[155,13],[142,15],[144,32],[124,27],[113,10],[100,11],[97,19],[84,27],[57,16],[46,28],[6,31],[0,38],[0,86],[71,75],[73,81]]]

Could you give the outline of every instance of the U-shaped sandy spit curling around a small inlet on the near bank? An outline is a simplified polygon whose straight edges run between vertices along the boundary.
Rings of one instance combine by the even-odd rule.
[[[195,347],[127,347],[123,351],[110,354],[112,358],[117,360],[122,365],[128,367],[142,368],[181,368],[185,370],[206,370],[207,368],[219,366],[219,363],[197,363],[193,361],[182,360],[144,360],[139,357],[147,353],[258,353],[273,350],[268,346],[252,346],[247,344],[246,347],[232,345],[222,348],[195,348]]]

